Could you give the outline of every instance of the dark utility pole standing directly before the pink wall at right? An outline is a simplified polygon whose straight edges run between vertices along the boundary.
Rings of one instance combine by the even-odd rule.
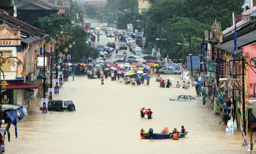
[[[246,136],[246,119],[245,119],[245,59],[242,58],[242,97],[243,97],[243,119],[244,132]]]

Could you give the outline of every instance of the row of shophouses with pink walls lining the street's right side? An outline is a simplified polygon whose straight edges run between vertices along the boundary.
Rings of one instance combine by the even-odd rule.
[[[235,70],[232,66],[234,58],[234,34],[235,24],[237,31],[237,48],[236,48],[236,60]],[[236,115],[236,120],[241,125],[241,118],[237,114],[238,103],[242,106],[242,58],[245,59],[245,108],[247,127],[251,123],[256,122],[256,104],[251,104],[249,100],[256,100],[256,6],[245,10],[242,15],[233,16],[233,26],[222,31],[221,23],[214,21],[212,29],[210,31],[210,37],[207,41],[208,60],[212,60],[215,64],[219,61],[219,68],[216,67],[216,72],[208,72],[208,76],[227,79],[221,80],[219,89],[226,89],[223,93],[225,100],[230,104],[231,97],[231,81],[233,79],[235,85],[235,104],[233,108],[233,114]],[[219,51],[219,59],[217,60],[216,52]],[[218,56],[218,55],[217,55]],[[209,65],[209,64],[208,64]],[[221,87],[224,85],[224,87]],[[211,85],[211,83],[208,83]],[[208,89],[209,91],[210,89]],[[240,102],[238,102],[238,96]],[[224,103],[226,103],[224,100]],[[242,112],[242,110],[241,110]]]

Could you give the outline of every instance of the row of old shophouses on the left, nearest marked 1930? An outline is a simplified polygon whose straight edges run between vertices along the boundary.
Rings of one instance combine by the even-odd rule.
[[[29,109],[32,100],[37,97],[41,86],[38,76],[42,70],[37,68],[36,57],[42,54],[42,44],[47,37],[45,31],[17,20],[0,9],[0,77],[9,84],[1,89],[2,111],[20,106]],[[23,70],[26,76],[21,75]]]

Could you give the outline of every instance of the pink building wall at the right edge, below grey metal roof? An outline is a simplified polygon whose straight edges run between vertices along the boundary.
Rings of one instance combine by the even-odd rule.
[[[243,56],[248,57],[248,59],[246,59],[246,61],[250,65],[251,58],[256,57],[256,43],[253,43],[253,44],[243,47]],[[251,64],[254,65],[254,63],[251,63]],[[251,95],[253,95],[254,83],[256,83],[256,74],[255,74],[256,68],[254,68],[254,67],[251,68],[250,66],[247,66],[247,69],[248,69],[247,76],[246,76],[247,83],[245,83],[245,84],[247,85],[247,92],[251,96]],[[256,84],[255,84],[255,86],[256,86]],[[256,87],[255,87],[255,90],[256,90]],[[248,99],[248,100],[251,100],[251,99]]]

